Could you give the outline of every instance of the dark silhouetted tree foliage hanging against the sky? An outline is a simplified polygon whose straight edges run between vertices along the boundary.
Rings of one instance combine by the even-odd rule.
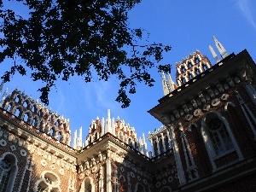
[[[141,0],[13,0],[23,3],[26,16],[6,9],[0,0],[0,62],[13,58],[14,64],[2,79],[16,72],[34,81],[42,80],[41,101],[48,104],[50,88],[56,79],[79,75],[85,82],[120,80],[117,102],[122,108],[131,102],[137,83],[152,86],[148,69],[170,71],[160,65],[163,44],[149,44],[148,33],[131,29],[127,13]],[[146,33],[146,34],[145,34]],[[19,58],[20,63],[17,63]]]

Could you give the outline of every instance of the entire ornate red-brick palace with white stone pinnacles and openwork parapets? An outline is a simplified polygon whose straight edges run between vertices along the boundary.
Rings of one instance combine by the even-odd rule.
[[[163,125],[137,137],[124,120],[95,119],[71,145],[69,119],[20,90],[0,101],[1,192],[256,191],[256,66],[247,50],[211,64],[199,50],[162,74],[148,112]],[[3,84],[0,86],[3,90]]]

